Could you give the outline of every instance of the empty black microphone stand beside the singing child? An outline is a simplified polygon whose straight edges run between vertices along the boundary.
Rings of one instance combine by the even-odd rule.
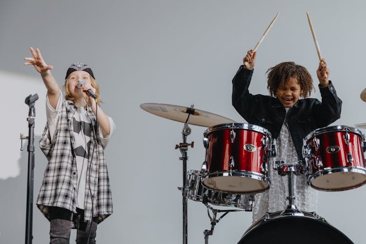
[[[20,151],[23,151],[23,139],[28,139],[28,183],[27,183],[27,213],[25,224],[25,244],[32,244],[32,219],[33,219],[33,181],[34,181],[34,119],[36,118],[35,102],[38,100],[37,93],[25,98],[25,104],[29,106],[28,113],[28,136],[20,134]]]

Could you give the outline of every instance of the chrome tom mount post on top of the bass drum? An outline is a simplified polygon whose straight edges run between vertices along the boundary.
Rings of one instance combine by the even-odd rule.
[[[304,216],[295,205],[295,194],[294,194],[294,174],[301,175],[305,173],[305,166],[302,161],[298,161],[294,164],[285,164],[283,161],[276,161],[273,167],[278,170],[279,175],[288,176],[288,204],[280,216]]]

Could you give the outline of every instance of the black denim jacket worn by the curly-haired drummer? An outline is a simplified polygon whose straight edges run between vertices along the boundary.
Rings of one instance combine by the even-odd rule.
[[[321,87],[322,102],[318,99],[299,99],[286,114],[285,107],[274,97],[252,95],[248,87],[253,70],[240,66],[232,83],[232,104],[239,114],[250,124],[269,130],[272,139],[277,139],[286,120],[299,160],[303,159],[303,139],[313,130],[328,126],[341,116],[342,100],[337,97],[331,81]]]

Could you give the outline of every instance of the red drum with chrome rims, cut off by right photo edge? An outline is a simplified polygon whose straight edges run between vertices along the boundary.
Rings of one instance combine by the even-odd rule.
[[[345,125],[309,133],[305,137],[308,183],[322,191],[344,191],[365,184],[364,139],[360,130]]]

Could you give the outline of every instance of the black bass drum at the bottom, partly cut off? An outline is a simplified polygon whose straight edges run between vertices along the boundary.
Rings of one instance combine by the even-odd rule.
[[[252,224],[238,244],[353,244],[315,212],[304,216],[269,213]]]

